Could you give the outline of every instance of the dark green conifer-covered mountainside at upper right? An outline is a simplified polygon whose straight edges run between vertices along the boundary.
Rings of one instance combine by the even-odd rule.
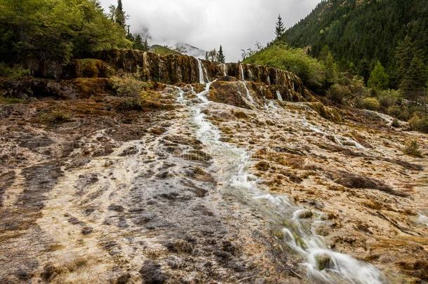
[[[425,0],[324,0],[283,34],[295,47],[311,46],[318,57],[328,46],[340,67],[366,79],[377,60],[393,78],[396,47],[408,36],[427,59],[428,5]],[[392,87],[397,82],[391,81]]]

